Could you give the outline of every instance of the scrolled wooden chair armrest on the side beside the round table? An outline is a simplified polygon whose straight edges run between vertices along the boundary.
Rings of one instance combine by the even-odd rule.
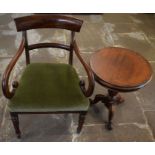
[[[84,69],[85,69],[85,71],[86,71],[86,73],[88,75],[88,88],[86,89],[85,82],[83,80],[80,81],[80,87],[81,87],[84,95],[86,97],[89,97],[89,96],[92,95],[93,90],[94,90],[94,85],[95,85],[93,72],[91,71],[91,68],[84,62],[84,60],[80,56],[80,51],[79,51],[79,48],[78,48],[77,43],[76,43],[75,40],[73,42],[73,50],[75,51],[76,56],[78,57],[78,59],[82,63],[82,65],[83,65],[83,67],[84,67]]]

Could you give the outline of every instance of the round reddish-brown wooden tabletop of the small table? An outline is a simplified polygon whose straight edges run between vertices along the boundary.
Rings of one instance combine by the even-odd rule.
[[[150,81],[152,76],[148,61],[125,48],[101,49],[92,55],[90,65],[97,79],[110,88],[138,89]]]

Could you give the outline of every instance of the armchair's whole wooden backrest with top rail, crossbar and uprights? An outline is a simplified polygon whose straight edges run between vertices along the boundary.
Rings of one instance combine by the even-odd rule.
[[[26,17],[20,17],[15,19],[17,31],[23,31],[23,38],[25,38],[25,55],[26,64],[30,64],[29,51],[37,48],[60,48],[70,51],[69,64],[73,63],[73,41],[75,32],[80,32],[83,24],[82,20],[72,17],[65,17],[61,15],[32,15]],[[41,29],[41,28],[58,28],[71,31],[70,45],[64,45],[60,43],[37,43],[28,44],[27,30]]]

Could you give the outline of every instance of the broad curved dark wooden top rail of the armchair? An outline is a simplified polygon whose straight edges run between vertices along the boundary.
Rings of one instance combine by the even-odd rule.
[[[26,31],[38,28],[60,28],[79,32],[82,20],[62,15],[31,15],[14,19],[17,31]]]

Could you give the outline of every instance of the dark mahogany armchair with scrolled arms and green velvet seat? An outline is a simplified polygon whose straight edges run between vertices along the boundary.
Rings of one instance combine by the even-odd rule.
[[[89,66],[80,56],[75,41],[83,21],[60,15],[32,15],[15,19],[17,31],[22,31],[22,41],[3,75],[2,89],[9,99],[8,109],[17,137],[20,138],[18,114],[79,113],[77,133],[80,133],[94,89],[94,78]],[[59,28],[71,31],[70,45],[60,43],[28,44],[27,30],[38,28]],[[60,48],[69,51],[69,64],[30,63],[29,52],[36,48]],[[25,49],[26,69],[19,83],[9,86],[10,74]],[[88,88],[80,80],[72,66],[73,52],[82,63],[88,75]]]

